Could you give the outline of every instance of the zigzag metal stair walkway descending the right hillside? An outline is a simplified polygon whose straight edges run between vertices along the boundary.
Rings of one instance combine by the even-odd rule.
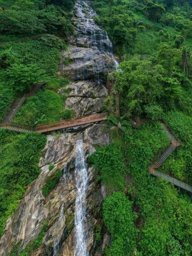
[[[131,121],[132,125],[137,128],[145,123],[151,122],[151,119],[143,119],[139,121]],[[153,158],[153,164],[148,167],[149,173],[156,176],[161,177],[164,180],[167,180],[168,182],[174,184],[175,186],[179,188],[183,188],[186,191],[192,192],[192,186],[190,185],[190,182],[188,180],[185,180],[186,182],[183,182],[181,180],[178,180],[172,173],[169,171],[161,168],[162,164],[167,160],[167,158],[171,155],[171,153],[176,150],[180,145],[181,141],[177,138],[177,136],[172,131],[171,127],[166,123],[160,122],[160,124],[163,126],[163,130],[169,137],[170,141],[169,143],[162,148]],[[160,172],[159,170],[162,170],[163,172]],[[167,174],[165,174],[166,172]]]

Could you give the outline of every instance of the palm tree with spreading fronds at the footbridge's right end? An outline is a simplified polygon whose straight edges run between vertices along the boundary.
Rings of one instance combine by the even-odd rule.
[[[131,122],[129,121],[130,114],[125,114],[120,119],[115,116],[109,115],[107,117],[107,125],[117,132],[121,131],[125,134],[131,135],[132,134],[132,126]]]

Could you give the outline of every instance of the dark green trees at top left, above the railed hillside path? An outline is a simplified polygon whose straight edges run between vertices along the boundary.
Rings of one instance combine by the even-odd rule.
[[[28,3],[28,4],[27,4]],[[0,12],[0,33],[6,34],[72,34],[74,28],[61,8],[47,5],[44,8],[30,1],[16,1],[11,9]]]

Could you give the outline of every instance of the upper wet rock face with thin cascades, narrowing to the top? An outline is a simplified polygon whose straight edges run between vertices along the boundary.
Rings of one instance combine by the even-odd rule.
[[[77,37],[67,51],[61,52],[58,76],[68,77],[72,81],[104,81],[104,72],[116,70],[117,61],[107,33],[93,20],[96,13],[84,4],[85,7],[80,3],[75,5]]]

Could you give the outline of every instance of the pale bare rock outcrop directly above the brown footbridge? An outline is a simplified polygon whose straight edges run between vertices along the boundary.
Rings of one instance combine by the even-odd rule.
[[[75,117],[104,110],[103,101],[107,97],[107,89],[102,84],[92,81],[72,82],[61,88],[58,93],[63,95],[69,88],[71,92],[68,94],[64,107],[72,109]]]

